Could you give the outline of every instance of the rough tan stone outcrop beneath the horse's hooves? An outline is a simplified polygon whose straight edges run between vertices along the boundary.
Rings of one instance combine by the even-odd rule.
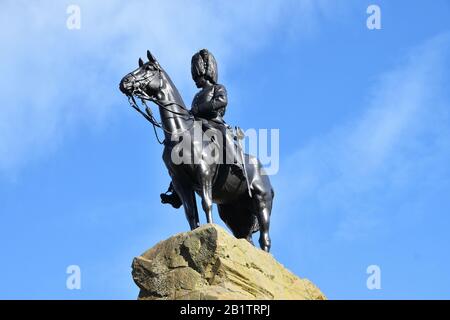
[[[159,242],[132,269],[139,299],[326,299],[271,254],[213,224]]]

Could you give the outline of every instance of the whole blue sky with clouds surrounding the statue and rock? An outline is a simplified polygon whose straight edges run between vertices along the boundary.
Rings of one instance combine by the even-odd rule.
[[[161,147],[118,83],[150,49],[189,104],[203,47],[227,121],[280,130],[273,255],[332,299],[450,298],[448,1],[1,6],[0,298],[136,298],[132,258],[188,224],[159,203]]]

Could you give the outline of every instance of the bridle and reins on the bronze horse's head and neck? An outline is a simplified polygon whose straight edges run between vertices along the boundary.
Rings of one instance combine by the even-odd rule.
[[[163,77],[162,77],[162,71],[160,68],[156,68],[158,75],[159,75],[159,80],[160,80],[160,84],[159,84],[159,88],[157,92],[161,92],[163,89]],[[131,74],[133,76],[134,79],[136,79],[136,77]],[[154,78],[156,77],[156,73],[154,73],[153,77],[146,77],[142,80],[140,80],[140,82],[145,81],[147,79],[150,79],[146,82],[146,84],[150,83],[151,81],[154,80]],[[141,110],[141,108],[139,107],[139,105],[136,103],[136,100],[134,98],[134,96],[138,97],[141,99],[141,103],[143,106],[145,106],[145,113]],[[170,112],[172,114],[176,114],[178,116],[183,117],[185,120],[194,120],[194,116],[185,109],[184,106],[182,106],[181,104],[175,102],[175,101],[168,101],[167,103],[162,103],[161,101],[159,101],[157,98],[155,98],[154,96],[149,96],[145,91],[143,91],[140,86],[137,88],[133,88],[133,91],[131,92],[131,94],[127,95],[128,97],[128,102],[130,104],[130,106],[135,109],[137,112],[139,112],[147,121],[149,121],[152,126],[153,126],[153,131],[155,133],[155,137],[156,140],[158,141],[159,144],[165,144],[165,140],[160,140],[159,136],[158,136],[158,132],[156,131],[156,128],[160,128],[161,130],[163,130],[164,132],[170,134],[170,135],[180,135],[183,134],[189,130],[191,130],[194,126],[194,122],[192,124],[192,126],[190,126],[187,129],[181,130],[179,132],[172,132],[170,130],[167,130],[166,128],[164,128],[162,122],[159,122],[155,116],[153,115],[152,109],[150,109],[146,103],[146,101],[151,101],[153,103],[155,103],[157,106],[159,106],[160,108],[164,109],[167,112]],[[186,113],[181,113],[181,112],[177,112],[174,110],[171,110],[169,107],[175,105],[178,106],[180,108],[182,108],[183,110],[186,110]]]

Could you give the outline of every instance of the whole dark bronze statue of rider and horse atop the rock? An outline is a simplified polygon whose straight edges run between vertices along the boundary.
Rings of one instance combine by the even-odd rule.
[[[274,192],[269,177],[264,174],[261,163],[255,157],[244,154],[239,145],[243,133],[223,120],[227,106],[227,92],[218,84],[218,69],[214,56],[206,49],[192,57],[192,78],[201,90],[188,111],[170,77],[155,57],[147,51],[148,62],[139,59],[139,68],[127,74],[120,82],[120,90],[128,97],[131,106],[150,121],[154,128],[164,132],[163,160],[172,178],[168,192],[161,200],[184,207],[190,228],[200,225],[195,193],[202,199],[202,207],[208,223],[212,223],[212,205],[225,224],[237,238],[252,242],[252,234],[260,231],[259,243],[263,250],[270,250],[269,224]],[[135,101],[141,99],[146,106],[143,112]],[[161,123],[156,121],[146,105],[152,101],[159,107]],[[196,125],[206,139],[195,138]],[[156,128],[155,128],[156,133]],[[217,139],[221,137],[221,139]],[[181,142],[183,163],[173,160],[174,151]],[[227,161],[215,161],[208,150],[223,151]],[[236,161],[230,162],[229,159]]]

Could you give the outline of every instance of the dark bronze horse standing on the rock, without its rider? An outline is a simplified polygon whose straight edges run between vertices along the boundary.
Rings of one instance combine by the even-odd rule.
[[[212,205],[216,203],[220,218],[236,238],[247,239],[253,244],[252,234],[259,231],[260,247],[269,252],[274,192],[261,163],[257,158],[241,152],[243,174],[242,170],[236,170],[235,164],[211,161],[211,155],[206,150],[214,149],[214,138],[195,139],[194,132],[199,121],[186,108],[172,80],[150,51],[147,51],[147,58],[147,62],[139,59],[139,67],[122,78],[119,88],[133,108],[154,127],[159,126],[163,130],[162,158],[183,203],[191,230],[200,226],[195,200],[197,193],[201,197],[207,223],[213,222]],[[141,111],[135,98],[141,99],[146,107],[145,112]],[[161,122],[156,121],[146,101],[158,106]],[[180,137],[183,141],[189,141],[189,148],[183,148],[183,159],[196,161],[178,163],[173,160]]]

